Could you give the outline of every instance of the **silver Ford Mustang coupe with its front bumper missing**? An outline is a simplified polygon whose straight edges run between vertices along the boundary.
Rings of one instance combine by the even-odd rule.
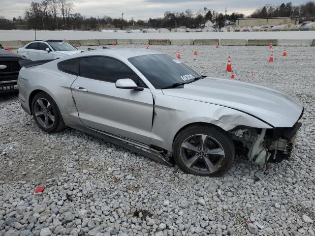
[[[194,175],[223,175],[235,153],[280,162],[301,126],[303,107],[287,95],[199,75],[157,51],[21,63],[21,105],[45,132],[68,126]]]

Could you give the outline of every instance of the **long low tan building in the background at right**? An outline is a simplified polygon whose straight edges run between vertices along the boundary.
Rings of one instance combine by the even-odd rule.
[[[239,18],[236,20],[236,27],[243,26],[277,26],[284,24],[299,24],[300,17],[292,16],[292,17],[266,17],[266,18]]]

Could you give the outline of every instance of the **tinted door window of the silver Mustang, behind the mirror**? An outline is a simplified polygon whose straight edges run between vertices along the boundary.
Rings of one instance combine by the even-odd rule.
[[[119,79],[129,78],[138,86],[143,86],[139,82],[138,76],[125,64],[105,57],[81,58],[80,76],[111,83],[116,83]]]

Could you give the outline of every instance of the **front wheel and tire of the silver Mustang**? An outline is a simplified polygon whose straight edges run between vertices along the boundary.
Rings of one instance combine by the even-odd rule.
[[[192,124],[176,135],[173,156],[184,172],[220,177],[234,161],[234,143],[232,138],[217,126]]]

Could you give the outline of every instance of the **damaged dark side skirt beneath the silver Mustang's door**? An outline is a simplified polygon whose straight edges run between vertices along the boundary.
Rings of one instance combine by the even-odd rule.
[[[131,151],[134,151],[138,154],[141,154],[143,156],[146,156],[150,159],[153,159],[155,161],[158,161],[164,165],[173,166],[173,164],[166,160],[165,156],[161,154],[158,150],[151,148],[148,145],[135,142],[133,140],[129,140],[120,136],[116,136],[113,134],[105,133],[99,130],[78,126],[78,125],[67,125],[70,128],[80,130],[84,133],[87,133],[89,135],[95,136],[97,138],[100,138],[102,140],[105,140],[107,142],[110,142],[112,144],[116,144],[118,146],[121,146],[123,148],[129,149]]]

